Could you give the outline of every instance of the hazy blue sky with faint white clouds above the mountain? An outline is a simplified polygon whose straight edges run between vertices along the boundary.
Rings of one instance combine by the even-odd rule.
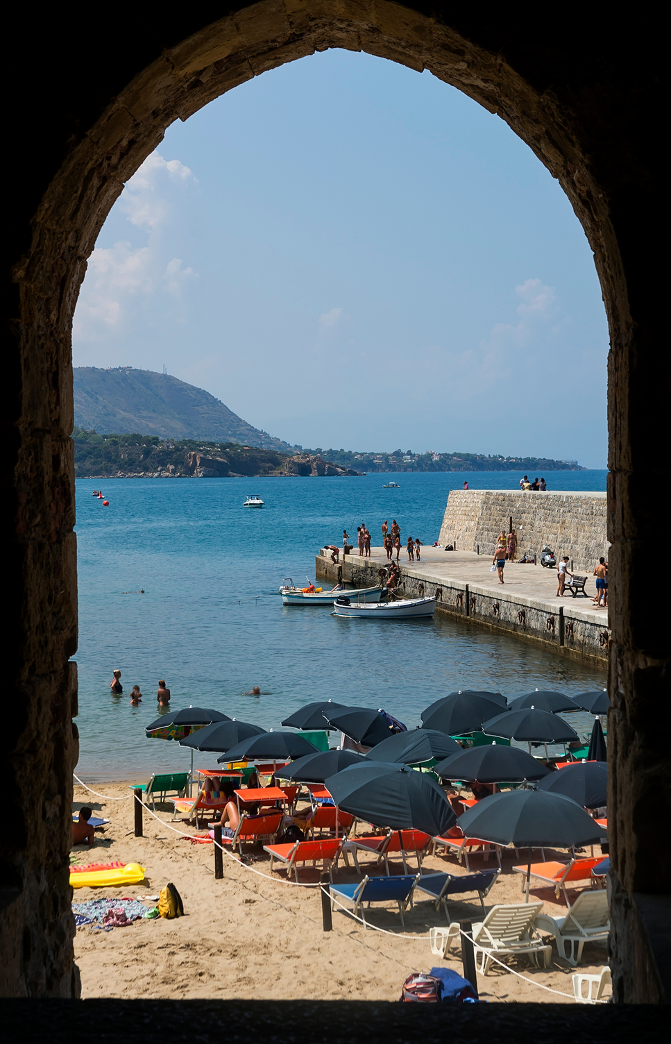
[[[425,72],[332,50],[166,133],[89,261],[75,365],[207,388],[306,447],[605,467],[607,327],[556,181]]]

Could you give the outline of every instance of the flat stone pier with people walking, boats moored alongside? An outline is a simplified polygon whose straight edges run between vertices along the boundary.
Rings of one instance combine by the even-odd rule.
[[[358,554],[343,559],[341,554],[338,565],[331,562],[331,551],[325,548],[316,556],[315,575],[333,583],[342,579],[355,588],[370,587],[383,579],[386,565],[386,552],[381,547],[374,548],[369,559]],[[475,551],[425,546],[422,562],[408,562],[403,551],[397,592],[406,598],[434,596],[437,613],[537,642],[559,656],[606,666],[608,610],[592,603],[592,570],[576,568],[576,573],[589,576],[585,587],[590,597],[566,594],[557,598],[554,569],[506,563],[501,585],[497,573],[489,571],[490,566],[490,555]]]

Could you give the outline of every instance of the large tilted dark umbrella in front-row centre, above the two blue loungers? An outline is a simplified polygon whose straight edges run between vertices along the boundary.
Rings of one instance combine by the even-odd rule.
[[[392,830],[423,830],[435,836],[456,823],[442,788],[428,773],[403,764],[369,761],[352,765],[325,785],[338,808]]]

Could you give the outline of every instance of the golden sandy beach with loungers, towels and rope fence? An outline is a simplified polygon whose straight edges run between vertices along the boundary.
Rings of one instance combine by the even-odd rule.
[[[139,862],[146,869],[146,877],[143,883],[131,887],[76,888],[73,902],[153,896],[172,881],[183,897],[186,916],[175,920],[140,920],[113,931],[90,926],[78,928],[74,946],[82,997],[397,1000],[407,975],[429,971],[440,963],[431,953],[428,932],[431,926],[445,927],[447,922],[444,912],[436,912],[432,903],[417,902],[406,912],[405,931],[396,906],[373,908],[369,921],[391,934],[366,930],[336,908],[333,930],[325,932],[317,888],[282,883],[286,880],[284,872],[275,871],[272,877],[253,872],[269,875],[269,858],[261,847],[247,849],[248,867],[224,855],[223,879],[215,880],[213,845],[192,845],[175,833],[174,828],[188,834],[202,831],[173,822],[171,808],[157,805],[159,820],[145,812],[144,836],[135,837],[133,799],[127,784],[97,784],[95,789],[110,799],[123,800],[98,798],[75,785],[73,811],[86,804],[93,808],[94,815],[111,823],[96,831],[93,849],[76,846],[73,857],[79,864]],[[359,833],[362,832],[359,825]],[[546,858],[566,859],[566,853],[546,850]],[[368,861],[367,857],[361,860],[362,864],[364,861]],[[523,857],[518,860],[513,851],[504,852],[504,872],[485,899],[487,909],[495,903],[522,901],[522,877],[511,871],[522,861]],[[496,865],[492,856],[488,863],[479,854],[472,859],[473,870],[492,865]],[[415,867],[413,855],[409,872]],[[424,867],[428,871],[465,873],[465,868],[453,856],[429,856]],[[373,874],[380,872],[372,870]],[[391,863],[391,872],[402,872],[400,860]],[[299,879],[316,881],[319,873],[320,868],[308,867],[299,870]],[[356,871],[348,870],[340,861],[335,872],[336,882],[357,879]],[[544,901],[544,912],[555,917],[566,915],[564,900],[555,898],[554,889],[533,888],[532,895]],[[146,904],[155,905],[149,901]],[[450,918],[481,920],[477,897],[452,904]],[[605,945],[589,944],[579,971],[595,974],[605,963]],[[452,951],[445,964],[461,973],[458,949]],[[522,960],[511,963],[510,968],[531,981],[495,965],[488,975],[478,976],[483,999],[574,1002],[571,981],[574,969],[557,957],[554,947],[548,969],[537,969]],[[567,996],[538,989],[538,984]]]

